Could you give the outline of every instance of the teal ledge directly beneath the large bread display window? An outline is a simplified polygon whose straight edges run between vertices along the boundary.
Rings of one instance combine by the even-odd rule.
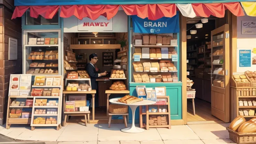
[[[173,86],[182,86],[182,82],[152,82],[152,83],[142,83],[142,82],[130,82],[130,86],[155,86],[155,87],[173,87]]]

